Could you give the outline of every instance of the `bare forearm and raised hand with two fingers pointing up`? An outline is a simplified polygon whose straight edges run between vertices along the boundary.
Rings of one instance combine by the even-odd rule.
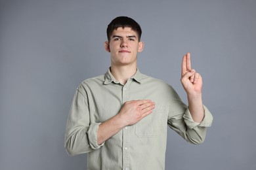
[[[190,53],[183,56],[181,83],[188,96],[188,109],[195,122],[202,122],[204,109],[202,102],[202,77],[191,69]]]

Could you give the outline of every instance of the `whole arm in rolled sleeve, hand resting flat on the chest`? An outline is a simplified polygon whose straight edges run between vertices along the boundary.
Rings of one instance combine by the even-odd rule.
[[[77,90],[66,125],[65,147],[70,156],[91,152],[116,134],[122,127],[135,124],[154,109],[150,100],[126,102],[119,113],[106,122],[90,122],[87,95]]]

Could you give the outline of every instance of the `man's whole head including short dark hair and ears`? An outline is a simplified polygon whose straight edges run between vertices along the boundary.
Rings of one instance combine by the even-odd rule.
[[[131,65],[137,68],[137,53],[144,48],[140,25],[131,18],[119,16],[108,25],[107,35],[104,48],[110,52],[111,67]]]

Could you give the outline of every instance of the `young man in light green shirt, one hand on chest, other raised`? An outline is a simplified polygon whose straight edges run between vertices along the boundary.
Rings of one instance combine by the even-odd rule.
[[[66,127],[68,154],[88,153],[88,169],[165,169],[167,125],[186,141],[200,144],[211,113],[202,103],[202,77],[182,59],[181,83],[188,107],[165,82],[137,69],[142,52],[140,25],[117,17],[107,28],[111,66],[105,75],[83,81]]]

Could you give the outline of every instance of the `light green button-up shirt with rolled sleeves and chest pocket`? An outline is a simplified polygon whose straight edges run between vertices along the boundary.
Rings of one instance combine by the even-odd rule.
[[[115,116],[125,101],[137,99],[151,99],[156,109],[98,145],[99,124]],[[109,69],[77,88],[66,126],[65,147],[71,156],[88,153],[88,170],[165,169],[167,125],[186,141],[200,144],[213,120],[209,110],[204,109],[203,121],[194,122],[188,107],[165,82],[137,70],[123,85]]]

